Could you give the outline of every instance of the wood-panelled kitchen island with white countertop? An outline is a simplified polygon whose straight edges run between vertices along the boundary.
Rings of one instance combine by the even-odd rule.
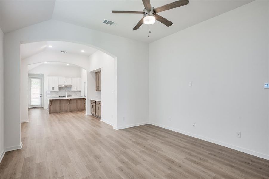
[[[84,111],[85,97],[55,97],[48,98],[49,113]]]

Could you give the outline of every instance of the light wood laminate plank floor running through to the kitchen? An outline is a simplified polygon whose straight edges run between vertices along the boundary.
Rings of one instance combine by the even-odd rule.
[[[30,109],[1,179],[258,179],[269,161],[150,124],[114,130],[85,112]]]

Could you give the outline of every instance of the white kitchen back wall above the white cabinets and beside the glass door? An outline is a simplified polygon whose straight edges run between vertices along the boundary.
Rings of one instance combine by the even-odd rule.
[[[46,91],[48,90],[48,76],[81,77],[81,68],[44,63],[33,68],[32,70],[29,70],[28,74],[44,74],[44,101],[43,101],[44,105],[43,107],[45,109],[48,109],[49,105],[48,105],[48,99],[47,99],[47,93],[46,93]],[[81,87],[82,87],[82,84],[81,84]]]

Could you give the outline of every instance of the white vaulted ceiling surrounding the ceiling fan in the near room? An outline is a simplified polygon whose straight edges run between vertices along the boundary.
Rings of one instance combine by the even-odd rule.
[[[50,3],[49,3],[50,2]],[[1,0],[1,29],[4,33],[26,27],[48,19],[56,19],[95,30],[132,38],[144,42],[160,38],[198,24],[214,16],[240,7],[249,0],[190,0],[188,5],[158,13],[174,24],[166,27],[160,22],[150,26],[143,24],[132,30],[143,17],[142,14],[112,14],[112,10],[143,11],[141,0],[102,1],[5,1]],[[55,2],[55,3],[54,3]],[[160,7],[174,1],[151,0],[151,6]],[[44,8],[45,7],[45,8]],[[52,12],[52,9],[53,12]],[[41,11],[42,13],[40,13]],[[19,19],[19,21],[18,21]],[[114,21],[117,25],[104,24],[103,20]],[[18,23],[19,22],[19,23]]]

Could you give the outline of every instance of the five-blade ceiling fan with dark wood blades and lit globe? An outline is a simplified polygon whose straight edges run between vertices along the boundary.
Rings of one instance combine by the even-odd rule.
[[[189,4],[188,0],[179,0],[179,1],[172,2],[170,4],[166,4],[166,5],[161,6],[161,7],[154,8],[154,7],[151,7],[149,0],[142,0],[142,2],[143,2],[144,7],[145,7],[144,11],[112,10],[112,13],[113,14],[144,14],[143,18],[136,24],[136,26],[133,28],[133,30],[137,30],[143,24],[143,22],[147,25],[154,24],[155,19],[157,21],[160,21],[161,23],[163,23],[167,27],[169,27],[173,24],[173,22],[168,21],[166,18],[163,18],[162,16],[160,16],[156,13]]]

